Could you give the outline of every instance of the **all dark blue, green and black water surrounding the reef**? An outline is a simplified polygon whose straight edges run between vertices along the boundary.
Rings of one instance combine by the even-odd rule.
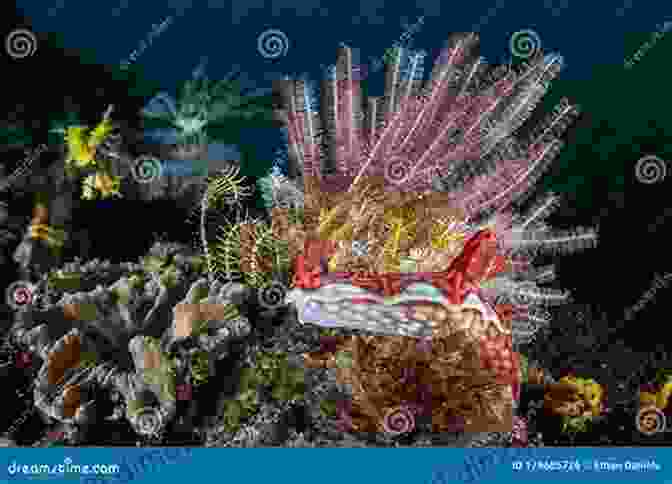
[[[363,89],[379,95],[379,66],[396,41],[426,50],[429,64],[450,33],[477,31],[488,62],[518,63],[512,38],[524,33],[538,42],[536,47],[560,53],[565,61],[529,122],[564,97],[582,110],[539,183],[540,191],[563,196],[549,223],[558,229],[596,226],[600,238],[596,249],[557,264],[559,282],[588,316],[575,324],[573,316],[560,313],[557,319],[573,326],[555,328],[536,354],[544,355],[549,370],[604,370],[600,381],[630,394],[636,371],[672,365],[660,337],[669,319],[663,314],[668,308],[662,308],[669,287],[655,286],[651,295],[651,281],[663,280],[661,275],[667,281],[672,274],[665,242],[672,221],[672,12],[663,2],[34,0],[3,2],[0,22],[2,40],[17,29],[38,39],[35,52],[25,58],[12,58],[0,46],[0,169],[5,173],[16,167],[24,149],[53,141],[54,123],[91,125],[110,104],[114,120],[128,132],[142,131],[140,110],[159,92],[174,95],[199,66],[212,79],[239,71],[246,87],[264,92],[284,76],[320,80],[343,43],[358,49],[354,61],[363,66]],[[524,47],[522,42],[517,49]],[[265,174],[283,149],[282,132],[269,120],[234,119],[208,134],[235,147],[250,178]],[[656,165],[648,179],[638,173],[645,159]],[[8,192],[0,202],[6,198],[17,219],[25,216],[19,220],[23,231],[34,200]],[[188,241],[190,208],[171,200],[78,201],[72,230],[86,231],[91,250],[80,254],[85,260],[136,260],[159,232],[170,241]],[[3,292],[18,279],[9,257],[17,243],[5,244]],[[632,308],[636,314],[629,317]],[[0,321],[11,317],[7,311]],[[633,441],[622,427],[610,425],[618,434],[611,443]]]

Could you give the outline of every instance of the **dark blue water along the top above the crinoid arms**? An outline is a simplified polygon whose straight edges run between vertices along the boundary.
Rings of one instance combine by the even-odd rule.
[[[666,11],[665,2],[651,0],[19,0],[18,5],[36,31],[58,32],[66,47],[93,52],[99,63],[128,62],[135,51],[134,62],[167,90],[190,77],[204,58],[210,77],[237,68],[260,87],[284,75],[319,79],[340,43],[357,48],[359,62],[371,71],[374,59],[420,18],[419,27],[411,29],[410,47],[426,50],[431,59],[450,32],[478,31],[482,54],[493,63],[506,62],[512,34],[531,29],[545,51],[563,55],[563,77],[589,79],[596,64],[623,64],[632,54],[624,51],[624,34],[655,32],[672,20],[672,8]],[[288,41],[284,55],[275,59],[258,50],[259,35],[269,29]],[[382,71],[369,79],[372,94],[380,94]],[[252,142],[258,155],[270,157],[279,138],[266,131],[247,130],[239,142]]]

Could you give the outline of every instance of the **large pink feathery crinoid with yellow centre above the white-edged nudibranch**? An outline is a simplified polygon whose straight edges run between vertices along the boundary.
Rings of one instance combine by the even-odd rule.
[[[343,247],[370,236],[365,256],[327,264],[341,268],[334,272],[356,268],[364,274],[352,282],[357,286],[352,294],[347,284],[341,287],[353,299],[380,296],[380,291],[392,299],[397,296],[388,293],[394,290],[406,294],[395,282],[408,272],[401,270],[401,259],[404,268],[417,266],[413,255],[429,260],[433,251],[437,267],[430,271],[431,283],[452,291],[452,305],[473,291],[490,306],[512,307],[506,318],[512,319],[514,338],[526,341],[547,324],[546,308],[568,300],[567,292],[546,286],[554,278],[552,266],[536,269],[534,258],[593,247],[597,241],[594,229],[554,231],[546,225],[559,205],[555,194],[523,210],[579,114],[563,99],[540,123],[528,126],[563,59],[540,52],[519,68],[492,67],[479,56],[478,36],[466,33],[449,39],[426,81],[424,56],[396,49],[388,60],[380,98],[363,96],[347,47],[339,48],[334,72],[322,84],[319,112],[305,79],[275,86],[287,126],[288,159],[302,167],[307,237],[338,241],[341,264],[349,257]],[[277,203],[273,196],[285,190],[284,180],[265,183],[266,198]],[[377,199],[364,196],[372,187],[380,188]],[[416,214],[409,223],[399,212],[411,206]],[[306,266],[306,260],[297,265]],[[320,286],[318,269],[304,267],[295,279],[301,286],[293,291],[297,300],[314,293],[328,299],[329,284]],[[355,306],[349,310],[356,312]],[[408,335],[414,322],[397,316],[397,334]],[[319,317],[308,319],[322,324]],[[368,331],[395,331],[386,318],[380,323],[365,319]],[[362,329],[357,321],[342,325]]]

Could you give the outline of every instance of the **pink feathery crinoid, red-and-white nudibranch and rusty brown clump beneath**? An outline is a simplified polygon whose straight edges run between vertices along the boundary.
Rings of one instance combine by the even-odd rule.
[[[277,87],[305,194],[305,236],[288,240],[303,242],[288,301],[303,322],[386,335],[354,337],[352,367],[341,369],[351,387],[348,421],[361,431],[389,430],[388,412],[414,429],[409,409],[427,406],[434,432],[456,419],[463,429],[508,422],[510,430],[512,390],[519,393],[513,348],[548,324],[547,306],[567,300],[540,286],[552,267],[531,263],[542,251],[596,240],[594,231],[543,225],[553,195],[521,210],[576,117],[565,103],[539,130],[517,135],[561,57],[540,54],[519,72],[488,70],[477,50],[475,35],[454,36],[423,85],[420,59],[411,56],[412,72],[400,74],[400,49],[387,65],[385,95],[363,100],[352,52],[341,48],[320,112],[305,82]],[[296,200],[299,186],[288,185],[272,173],[264,188]],[[266,195],[286,208],[279,198]],[[431,350],[418,350],[418,338],[429,338]],[[423,375],[424,391],[402,383],[402,370]]]

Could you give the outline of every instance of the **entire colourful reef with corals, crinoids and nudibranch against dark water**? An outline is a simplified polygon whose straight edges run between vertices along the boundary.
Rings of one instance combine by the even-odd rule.
[[[362,99],[347,48],[322,106],[309,83],[279,82],[288,153],[256,183],[267,213],[246,211],[252,186],[235,163],[185,182],[199,249],[160,242],[134,263],[38,267],[0,348],[0,372],[27,407],[8,412],[19,415],[9,437],[230,447],[598,438],[621,411],[602,375],[554,375],[533,351],[558,340],[549,334],[565,316],[546,310],[568,296],[548,287],[551,266],[533,262],[596,240],[546,225],[557,196],[528,200],[578,110],[563,101],[521,129],[561,58],[490,67],[477,43],[454,36],[427,82],[422,58],[395,49],[379,99]],[[207,158],[208,125],[247,112],[235,92],[216,101],[229,87],[199,72],[179,101],[149,102],[147,121],[171,124],[179,145],[168,157]],[[120,183],[134,157],[110,115],[67,126],[62,147],[66,168],[88,174],[85,190],[101,198],[135,186]],[[140,191],[151,198],[157,186]],[[59,210],[38,200],[20,261],[35,266],[38,243],[63,245]],[[627,402],[640,433],[659,431],[670,388],[660,377]],[[31,441],[33,424],[46,431]]]

